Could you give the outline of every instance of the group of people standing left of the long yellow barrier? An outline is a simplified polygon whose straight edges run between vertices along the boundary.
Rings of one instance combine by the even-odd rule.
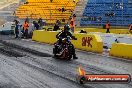
[[[46,22],[43,21],[42,18],[39,18],[38,21],[33,21],[30,23],[30,20],[27,17],[23,23],[20,23],[20,21],[18,20],[14,20],[14,24],[15,24],[15,38],[26,38],[27,39],[32,36],[32,32],[34,30],[43,29],[43,26],[46,25]]]

